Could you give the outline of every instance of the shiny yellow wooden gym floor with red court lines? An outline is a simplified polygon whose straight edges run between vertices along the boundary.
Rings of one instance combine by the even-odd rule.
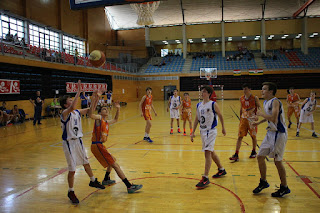
[[[262,101],[261,101],[262,102]],[[283,100],[284,102],[284,100]],[[295,137],[296,125],[289,129],[284,165],[291,194],[272,198],[280,185],[276,167],[267,162],[270,187],[259,195],[252,190],[259,182],[256,159],[249,159],[251,138],[246,137],[240,150],[240,162],[231,163],[234,153],[239,112],[238,101],[218,101],[223,111],[227,135],[218,125],[215,150],[227,171],[210,186],[196,190],[204,172],[201,139],[190,142],[189,136],[170,135],[167,103],[154,102],[158,117],[153,116],[153,144],[142,141],[145,121],[138,103],[121,108],[119,122],[110,128],[106,143],[129,180],[143,184],[139,193],[127,194],[122,181],[112,171],[116,184],[105,190],[88,186],[89,178],[78,167],[75,192],[80,200],[73,206],[67,197],[66,160],[61,146],[59,118],[42,120],[41,126],[31,121],[0,128],[0,212],[319,212],[320,208],[320,139],[312,138],[310,124],[303,125]],[[193,115],[196,101],[193,101]],[[285,104],[286,105],[286,104]],[[114,113],[114,112],[113,112]],[[112,113],[111,113],[112,114]],[[314,113],[316,132],[320,133],[320,113]],[[93,127],[91,119],[82,120],[84,137],[94,175],[102,181],[105,170],[90,152]],[[182,128],[182,122],[180,121]],[[258,144],[265,136],[265,124],[259,126]],[[189,134],[189,130],[187,131]],[[210,175],[216,173],[213,163]]]

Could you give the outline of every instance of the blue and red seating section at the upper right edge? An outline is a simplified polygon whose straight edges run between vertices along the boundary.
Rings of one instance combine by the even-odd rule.
[[[293,49],[281,52],[275,50],[274,54],[277,60],[272,58],[263,58],[263,61],[268,69],[279,68],[315,68],[320,67],[320,48],[309,48],[309,54],[304,55],[300,49]]]

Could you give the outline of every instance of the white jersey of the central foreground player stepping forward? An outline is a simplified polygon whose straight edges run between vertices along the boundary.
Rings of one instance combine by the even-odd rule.
[[[200,122],[200,131],[214,129],[218,125],[217,113],[214,110],[214,101],[197,104],[197,115]]]

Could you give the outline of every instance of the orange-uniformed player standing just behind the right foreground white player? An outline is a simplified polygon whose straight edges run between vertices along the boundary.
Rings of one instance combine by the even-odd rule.
[[[240,124],[236,152],[230,160],[239,161],[239,150],[244,136],[249,132],[252,138],[252,151],[249,158],[255,158],[257,146],[257,126],[252,126],[256,120],[257,109],[260,109],[259,98],[251,94],[251,87],[248,84],[242,85],[244,95],[240,97]]]

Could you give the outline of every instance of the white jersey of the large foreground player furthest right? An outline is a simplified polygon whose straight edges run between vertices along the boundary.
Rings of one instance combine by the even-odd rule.
[[[277,132],[287,132],[283,106],[282,106],[281,101],[278,98],[274,97],[268,101],[265,100],[263,103],[264,111],[266,112],[267,115],[272,115],[272,103],[274,100],[278,100],[280,103],[279,115],[278,115],[278,119],[277,119],[278,122],[275,124],[271,121],[268,121],[267,130],[277,131]]]

